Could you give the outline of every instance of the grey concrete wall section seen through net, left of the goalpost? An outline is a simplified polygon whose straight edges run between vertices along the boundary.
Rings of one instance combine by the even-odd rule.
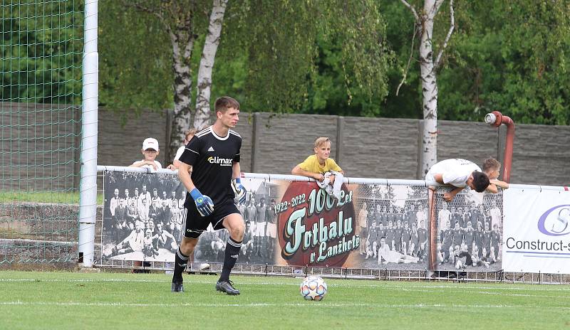
[[[79,116],[68,105],[0,102],[0,191],[73,190]]]

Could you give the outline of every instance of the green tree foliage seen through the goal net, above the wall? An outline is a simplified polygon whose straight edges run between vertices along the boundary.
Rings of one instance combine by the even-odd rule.
[[[83,1],[0,4],[2,101],[81,103]]]

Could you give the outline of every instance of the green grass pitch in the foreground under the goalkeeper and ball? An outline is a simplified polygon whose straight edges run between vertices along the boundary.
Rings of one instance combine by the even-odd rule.
[[[326,280],[322,302],[301,278],[0,272],[0,329],[570,329],[570,287],[545,284]]]

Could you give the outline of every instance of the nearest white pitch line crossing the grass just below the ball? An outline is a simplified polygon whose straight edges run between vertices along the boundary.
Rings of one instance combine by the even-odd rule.
[[[0,302],[1,306],[63,306],[63,307],[375,307],[379,309],[385,308],[462,308],[462,309],[496,309],[496,308],[515,308],[515,309],[536,309],[534,306],[522,305],[505,305],[505,304],[338,304],[328,302],[299,302],[299,303],[245,303],[245,304],[204,304],[204,303],[188,303],[180,304],[142,304],[142,303],[123,303],[123,302]],[[549,309],[569,310],[570,307],[548,307]]]

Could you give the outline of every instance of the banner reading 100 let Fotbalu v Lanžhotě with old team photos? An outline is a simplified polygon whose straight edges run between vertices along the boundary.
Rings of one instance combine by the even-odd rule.
[[[174,261],[185,228],[177,176],[105,172],[103,259]],[[427,189],[244,178],[242,252],[261,265],[427,269]],[[215,207],[215,206],[214,206]],[[223,262],[227,230],[200,235],[195,262]]]

